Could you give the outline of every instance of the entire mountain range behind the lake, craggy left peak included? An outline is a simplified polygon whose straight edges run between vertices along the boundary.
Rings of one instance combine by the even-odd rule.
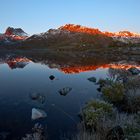
[[[109,47],[123,46],[124,44],[140,43],[140,34],[120,31],[103,32],[99,29],[81,25],[66,24],[58,29],[28,36],[21,28],[8,27],[4,34],[0,34],[0,45],[18,44],[30,48],[38,47]],[[76,48],[76,47],[77,48]]]

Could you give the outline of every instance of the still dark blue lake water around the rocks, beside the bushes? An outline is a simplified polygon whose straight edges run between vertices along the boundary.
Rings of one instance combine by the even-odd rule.
[[[45,127],[50,140],[74,134],[81,108],[87,101],[99,96],[98,86],[87,79],[107,77],[109,69],[108,65],[95,69],[92,66],[63,69],[32,61],[26,62],[27,65],[12,61],[0,64],[0,134],[8,134],[8,140],[21,139],[31,132],[35,123]],[[49,78],[50,75],[55,76],[54,80]],[[64,96],[58,91],[65,87],[72,90]],[[45,100],[32,100],[32,93],[40,93]],[[32,108],[44,110],[47,117],[32,120]]]

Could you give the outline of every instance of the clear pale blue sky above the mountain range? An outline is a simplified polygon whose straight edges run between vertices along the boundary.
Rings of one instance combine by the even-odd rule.
[[[140,0],[0,0],[0,32],[11,26],[34,34],[67,23],[140,33]]]

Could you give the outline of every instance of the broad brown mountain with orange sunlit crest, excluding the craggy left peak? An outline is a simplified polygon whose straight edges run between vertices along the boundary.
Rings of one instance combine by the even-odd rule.
[[[121,43],[140,43],[140,34],[129,31],[116,33],[102,32],[99,29],[89,28],[80,25],[66,24],[58,29],[37,35],[26,40],[30,45],[54,46],[54,45],[75,45],[75,46],[112,46]],[[26,45],[28,44],[26,43]]]

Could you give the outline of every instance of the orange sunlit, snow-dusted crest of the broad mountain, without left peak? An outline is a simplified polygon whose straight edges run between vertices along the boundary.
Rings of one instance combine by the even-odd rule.
[[[57,35],[68,35],[71,33],[85,33],[90,35],[104,35],[112,37],[114,41],[121,41],[123,43],[140,43],[140,34],[129,32],[129,31],[120,31],[120,32],[103,32],[99,29],[89,28],[81,25],[75,24],[66,24],[59,27],[58,29],[50,29],[49,31],[41,34],[35,34],[29,37],[32,39],[48,39],[49,37],[56,37]]]

